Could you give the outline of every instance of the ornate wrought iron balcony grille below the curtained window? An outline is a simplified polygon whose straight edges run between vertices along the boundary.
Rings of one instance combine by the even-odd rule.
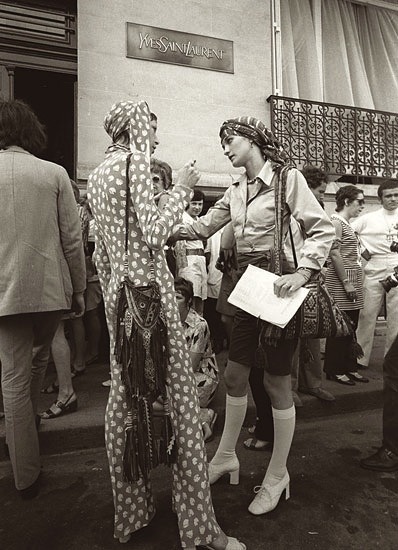
[[[398,178],[398,113],[270,96],[271,128],[297,168]]]

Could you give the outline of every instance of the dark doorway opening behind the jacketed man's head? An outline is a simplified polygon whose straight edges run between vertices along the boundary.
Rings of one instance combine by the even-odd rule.
[[[28,103],[45,125],[48,146],[44,159],[75,172],[75,98],[76,75],[35,69],[15,68],[14,98]]]

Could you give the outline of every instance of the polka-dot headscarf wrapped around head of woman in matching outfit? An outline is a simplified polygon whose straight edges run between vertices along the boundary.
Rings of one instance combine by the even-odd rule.
[[[151,112],[145,101],[119,101],[112,105],[104,119],[104,128],[114,144],[123,132],[129,135],[131,151],[139,151],[150,156],[149,128]],[[112,149],[112,147],[110,148]]]

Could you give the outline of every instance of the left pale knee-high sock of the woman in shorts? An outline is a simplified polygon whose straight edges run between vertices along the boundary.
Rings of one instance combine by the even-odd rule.
[[[247,395],[242,397],[226,396],[225,424],[213,464],[221,464],[235,456],[236,442],[246,416]]]

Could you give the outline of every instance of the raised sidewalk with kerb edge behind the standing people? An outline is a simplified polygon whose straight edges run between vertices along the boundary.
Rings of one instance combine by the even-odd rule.
[[[382,406],[382,363],[385,340],[385,322],[379,321],[376,327],[375,340],[370,366],[361,371],[370,379],[368,384],[357,383],[355,386],[343,386],[333,381],[324,380],[323,387],[336,397],[334,402],[325,402],[309,395],[299,394],[303,407],[297,409],[297,420],[321,416],[348,413],[360,410],[375,409]],[[221,382],[212,402],[219,418],[216,432],[220,432],[224,423],[225,385],[222,373],[225,368],[227,353],[217,356],[221,373]],[[54,380],[53,368],[48,369],[46,383]],[[78,410],[60,418],[44,420],[40,426],[40,449],[42,454],[60,454],[64,452],[90,449],[104,446],[104,414],[108,388],[101,382],[108,377],[108,365],[96,364],[87,367],[82,376],[74,379],[74,388],[78,397]],[[46,410],[56,398],[55,394],[42,394],[40,410]],[[245,425],[255,420],[255,407],[249,397]],[[4,419],[0,419],[0,461],[6,460],[4,452]]]

